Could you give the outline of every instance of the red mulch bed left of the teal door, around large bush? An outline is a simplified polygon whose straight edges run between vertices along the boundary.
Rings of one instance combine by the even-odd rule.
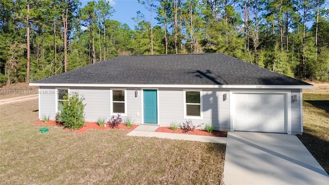
[[[63,126],[60,123],[57,123],[56,121],[49,120],[47,123],[44,121],[36,121],[33,124],[43,124],[43,125],[53,125],[53,126]],[[134,130],[138,125],[137,124],[132,124],[131,127],[127,127],[126,124],[120,123],[118,128],[114,128],[113,130],[129,130],[132,131]],[[88,129],[99,129],[99,130],[112,130],[111,127],[109,126],[99,126],[96,122],[84,122],[84,125],[79,129],[75,130],[75,133],[84,133]],[[65,128],[64,131],[71,131],[68,128]]]

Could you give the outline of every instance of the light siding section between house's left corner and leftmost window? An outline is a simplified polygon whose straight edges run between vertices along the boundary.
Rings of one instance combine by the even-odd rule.
[[[56,116],[56,90],[54,87],[42,86],[39,88],[39,112],[40,118],[49,116],[49,119],[54,120]]]

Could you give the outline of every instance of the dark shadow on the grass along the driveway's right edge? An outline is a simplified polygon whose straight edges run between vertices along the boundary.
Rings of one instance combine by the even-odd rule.
[[[305,128],[305,130],[306,129],[307,128]],[[303,135],[297,135],[297,137],[302,141],[304,146],[314,156],[314,158],[320,163],[326,173],[329,174],[329,142],[307,133],[303,133]]]

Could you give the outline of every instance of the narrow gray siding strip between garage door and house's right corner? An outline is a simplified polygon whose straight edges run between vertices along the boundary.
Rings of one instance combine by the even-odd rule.
[[[297,101],[291,101],[291,132],[301,132],[300,89],[291,89],[291,97],[297,95]]]

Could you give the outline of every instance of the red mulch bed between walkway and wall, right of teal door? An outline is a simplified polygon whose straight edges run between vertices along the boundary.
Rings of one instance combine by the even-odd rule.
[[[172,130],[171,127],[160,126],[155,132],[162,133],[175,133],[175,134],[189,134],[189,135],[198,135],[198,136],[215,136],[215,137],[227,137],[227,132],[223,131],[213,131],[212,133],[208,133],[204,130],[195,129],[192,132],[184,133],[180,128],[176,131]]]

